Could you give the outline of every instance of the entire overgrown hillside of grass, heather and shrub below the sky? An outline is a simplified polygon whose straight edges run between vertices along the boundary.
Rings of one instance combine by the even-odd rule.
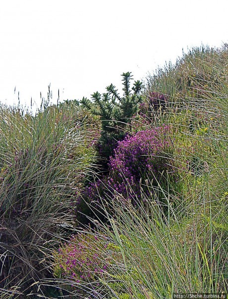
[[[0,298],[228,293],[228,49],[0,110]]]

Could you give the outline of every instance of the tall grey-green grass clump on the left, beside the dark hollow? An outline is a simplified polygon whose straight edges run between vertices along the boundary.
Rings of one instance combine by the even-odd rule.
[[[30,285],[50,277],[50,250],[68,233],[75,194],[93,163],[93,131],[86,131],[82,111],[69,105],[46,106],[35,116],[0,107],[0,289],[5,298],[25,298]]]

